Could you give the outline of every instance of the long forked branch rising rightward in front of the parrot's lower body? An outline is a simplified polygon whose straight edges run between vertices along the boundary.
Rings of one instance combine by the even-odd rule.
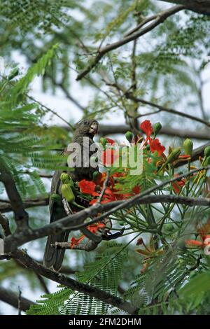
[[[169,179],[167,181],[163,181],[162,183],[149,188],[143,193],[136,195],[130,199],[109,202],[106,204],[94,204],[89,208],[86,208],[82,211],[79,211],[76,214],[72,214],[70,216],[66,216],[59,221],[54,223],[50,223],[48,225],[43,226],[42,228],[38,228],[36,230],[25,230],[25,232],[15,232],[14,235],[10,235],[4,239],[4,250],[5,253],[10,253],[14,251],[15,248],[25,244],[28,241],[32,241],[41,237],[45,237],[47,235],[56,235],[60,232],[64,232],[66,230],[80,230],[81,228],[85,228],[90,223],[97,223],[98,221],[103,221],[107,216],[115,213],[120,209],[130,209],[134,206],[134,204],[148,204],[148,203],[157,203],[157,202],[169,202],[169,203],[181,203],[191,205],[199,205],[199,206],[210,206],[210,199],[205,197],[192,198],[192,197],[181,197],[179,195],[150,195],[154,193],[155,190],[163,188],[167,186],[167,184],[173,183],[177,180],[183,179],[188,176],[192,176],[202,170],[210,169],[208,167],[201,167],[200,169],[195,169],[186,174],[181,174],[179,176],[174,177],[173,179]],[[104,212],[104,214],[102,214]],[[98,216],[98,214],[102,214]],[[97,217],[94,217],[97,216]],[[94,218],[92,221],[84,223],[87,218]]]

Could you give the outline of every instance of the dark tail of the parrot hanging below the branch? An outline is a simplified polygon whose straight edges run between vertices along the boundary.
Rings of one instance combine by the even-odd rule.
[[[65,249],[53,248],[51,244],[55,244],[55,242],[66,242],[68,237],[69,232],[63,232],[59,235],[49,235],[47,244],[45,246],[45,254],[43,257],[43,264],[45,267],[53,269],[57,272],[59,271],[64,260]]]

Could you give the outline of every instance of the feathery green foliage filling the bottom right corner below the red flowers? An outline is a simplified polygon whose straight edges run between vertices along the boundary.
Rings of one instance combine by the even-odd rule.
[[[148,269],[137,276],[131,288],[125,292],[125,298],[138,304],[139,314],[172,314],[171,307],[178,309],[176,299],[179,291],[186,297],[188,292],[193,293],[195,290],[194,280],[192,285],[189,283],[186,288],[181,287],[195,268],[197,260],[190,253],[180,254],[175,248],[144,262],[149,265]],[[209,274],[205,275],[203,286],[209,277]],[[196,292],[197,290],[194,291],[195,295]],[[163,302],[165,300],[167,303]]]

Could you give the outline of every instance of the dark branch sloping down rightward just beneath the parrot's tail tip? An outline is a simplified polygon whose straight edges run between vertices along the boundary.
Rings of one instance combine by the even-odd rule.
[[[115,307],[123,309],[123,311],[126,311],[129,314],[135,314],[137,311],[137,307],[134,307],[132,304],[130,304],[130,302],[124,301],[119,297],[106,293],[105,291],[100,290],[94,286],[78,282],[74,279],[64,276],[63,274],[54,272],[51,269],[38,264],[38,262],[34,262],[34,260],[32,260],[32,258],[30,258],[29,255],[23,251],[16,250],[12,253],[12,256],[25,267],[32,269],[36,274],[45,276],[46,278],[69,287],[72,290],[76,290],[80,293],[85,293],[85,295],[95,297],[98,300],[106,302],[107,304],[111,304]]]

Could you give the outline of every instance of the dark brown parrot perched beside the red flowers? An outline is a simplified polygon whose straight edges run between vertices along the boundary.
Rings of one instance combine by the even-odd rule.
[[[82,151],[81,167],[75,167],[73,172],[68,172],[69,176],[71,176],[73,181],[75,182],[80,181],[82,179],[92,180],[93,172],[98,171],[98,168],[84,167],[84,162],[83,162],[84,158],[86,158],[86,161],[90,160],[90,157],[94,153],[94,151],[90,151],[90,147],[86,145],[86,142],[87,141],[89,142],[89,146],[91,146],[91,144],[94,143],[93,137],[94,134],[97,132],[97,130],[98,130],[98,123],[96,120],[87,120],[87,119],[81,120],[76,126],[76,130],[73,134],[73,143],[78,143],[81,146],[81,151]],[[84,137],[87,137],[85,139],[85,145],[84,145]],[[65,149],[62,154],[69,155],[71,154],[71,152]],[[83,155],[85,155],[85,157],[83,157]],[[68,166],[67,164],[64,165]],[[54,173],[52,178],[50,195],[55,193],[61,195],[61,179],[60,179],[61,174],[62,171],[56,171]],[[62,202],[59,204],[50,199],[50,223],[54,221],[58,221],[59,219],[64,218],[65,216],[66,216],[66,209],[64,208]],[[66,242],[68,237],[69,237],[69,232],[62,232],[59,235],[50,235],[48,237],[48,241],[45,246],[45,254],[43,260],[44,265],[46,267],[50,267],[55,271],[59,271],[60,267],[62,266],[65,250],[53,248],[52,245],[55,244],[55,242],[57,241]]]

